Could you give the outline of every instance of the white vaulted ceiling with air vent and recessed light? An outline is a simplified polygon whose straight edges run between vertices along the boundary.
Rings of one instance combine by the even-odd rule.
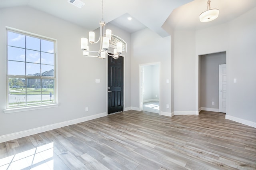
[[[82,8],[73,6],[67,0],[0,0],[0,8],[29,6],[88,30],[95,30],[102,18],[102,1],[81,1],[85,3]],[[162,28],[163,25],[195,30],[228,22],[256,7],[256,0],[212,0],[211,7],[220,10],[219,17],[212,22],[201,23],[199,15],[206,10],[206,2],[207,0],[104,0],[103,18],[106,23],[130,33],[150,28],[164,37],[168,33]],[[132,20],[127,20],[128,16]]]

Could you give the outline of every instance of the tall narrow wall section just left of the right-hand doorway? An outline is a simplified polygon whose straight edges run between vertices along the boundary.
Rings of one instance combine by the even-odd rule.
[[[196,40],[194,31],[174,31],[174,114],[196,114]]]

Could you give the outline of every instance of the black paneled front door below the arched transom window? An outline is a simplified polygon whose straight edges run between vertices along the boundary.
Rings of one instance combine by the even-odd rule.
[[[124,110],[124,57],[108,56],[108,114]]]

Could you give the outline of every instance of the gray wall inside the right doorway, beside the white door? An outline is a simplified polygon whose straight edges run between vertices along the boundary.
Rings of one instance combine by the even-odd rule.
[[[219,65],[226,64],[226,52],[200,55],[199,59],[201,107],[219,109]]]

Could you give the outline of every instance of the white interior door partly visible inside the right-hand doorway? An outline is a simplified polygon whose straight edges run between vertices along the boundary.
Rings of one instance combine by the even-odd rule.
[[[219,65],[219,112],[226,113],[226,64]]]

